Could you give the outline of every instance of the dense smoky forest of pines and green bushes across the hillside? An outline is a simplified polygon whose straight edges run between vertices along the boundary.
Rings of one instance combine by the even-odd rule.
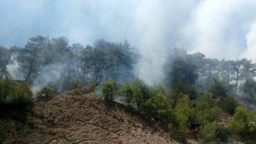
[[[96,83],[100,92],[94,95],[109,104],[123,99],[128,108],[181,141],[191,136],[201,143],[226,142],[230,136],[255,140],[256,63],[251,60],[219,60],[169,49],[162,65],[164,79],[151,86],[135,69],[140,52],[126,39],[98,39],[86,46],[68,42],[66,37],[36,36],[25,47],[0,47],[1,103],[19,105],[72,89],[72,95],[82,95],[79,87]],[[13,65],[19,73],[9,70]],[[40,89],[32,93],[32,87]],[[227,126],[222,113],[231,115]]]

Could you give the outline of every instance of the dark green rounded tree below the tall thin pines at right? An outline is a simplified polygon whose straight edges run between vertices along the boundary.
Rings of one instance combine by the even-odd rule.
[[[213,97],[224,98],[227,96],[226,88],[219,81],[215,81],[207,90]]]

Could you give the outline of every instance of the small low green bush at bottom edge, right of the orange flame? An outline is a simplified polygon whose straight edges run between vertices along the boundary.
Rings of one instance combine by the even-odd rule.
[[[205,124],[200,130],[200,143],[219,142],[217,138],[218,124],[216,121]]]

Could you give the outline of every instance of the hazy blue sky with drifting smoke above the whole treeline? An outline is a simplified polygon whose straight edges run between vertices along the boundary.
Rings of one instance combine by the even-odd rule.
[[[256,62],[256,1],[0,0],[0,45],[23,47],[37,35],[66,36],[70,45],[127,38],[142,54],[140,76],[153,84],[173,47]]]

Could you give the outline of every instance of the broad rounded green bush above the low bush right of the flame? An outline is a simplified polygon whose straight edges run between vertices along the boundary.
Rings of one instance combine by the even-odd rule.
[[[217,121],[220,108],[214,105],[212,96],[204,93],[196,100],[196,117],[201,124]]]

